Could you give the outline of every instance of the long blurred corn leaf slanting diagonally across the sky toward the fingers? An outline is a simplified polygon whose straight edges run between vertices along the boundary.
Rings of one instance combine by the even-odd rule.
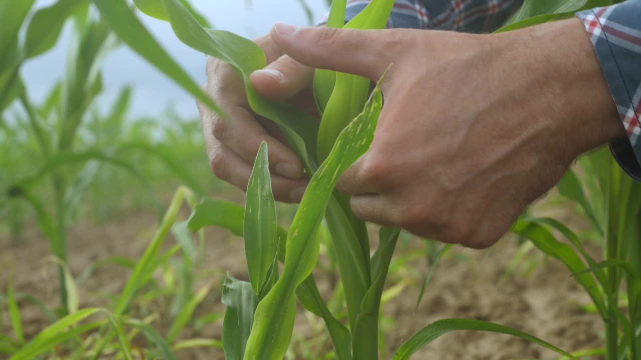
[[[178,85],[209,106],[213,111],[227,117],[226,113],[215,104],[192,80],[185,70],[174,61],[156,42],[140,20],[131,12],[124,0],[93,0],[102,17],[109,22],[113,31],[131,49],[161,70]],[[186,10],[185,10],[186,11]]]

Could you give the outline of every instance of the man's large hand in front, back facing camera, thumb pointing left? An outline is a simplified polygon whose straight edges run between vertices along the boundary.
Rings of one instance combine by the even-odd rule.
[[[356,215],[467,247],[497,241],[579,154],[624,135],[583,25],[499,35],[295,28],[272,39],[310,67],[374,81],[370,150],[342,177]]]

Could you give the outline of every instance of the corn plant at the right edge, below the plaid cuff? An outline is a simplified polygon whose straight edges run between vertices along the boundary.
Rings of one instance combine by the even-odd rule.
[[[552,218],[521,218],[512,231],[565,263],[585,288],[604,322],[606,359],[641,359],[641,206],[635,201],[641,197],[641,183],[624,174],[605,148],[580,158],[577,168],[583,175],[569,170],[557,185],[558,192],[581,208],[590,224],[588,234],[603,245],[603,261],[597,262],[583,249],[577,234]],[[558,241],[551,229],[574,249]],[[627,314],[619,307],[621,291],[625,291]]]

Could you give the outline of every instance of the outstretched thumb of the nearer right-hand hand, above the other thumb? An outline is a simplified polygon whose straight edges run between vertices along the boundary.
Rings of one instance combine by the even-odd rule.
[[[381,30],[299,28],[277,23],[271,37],[282,53],[305,65],[373,81],[378,81],[393,62],[393,51],[385,44],[388,37]]]

